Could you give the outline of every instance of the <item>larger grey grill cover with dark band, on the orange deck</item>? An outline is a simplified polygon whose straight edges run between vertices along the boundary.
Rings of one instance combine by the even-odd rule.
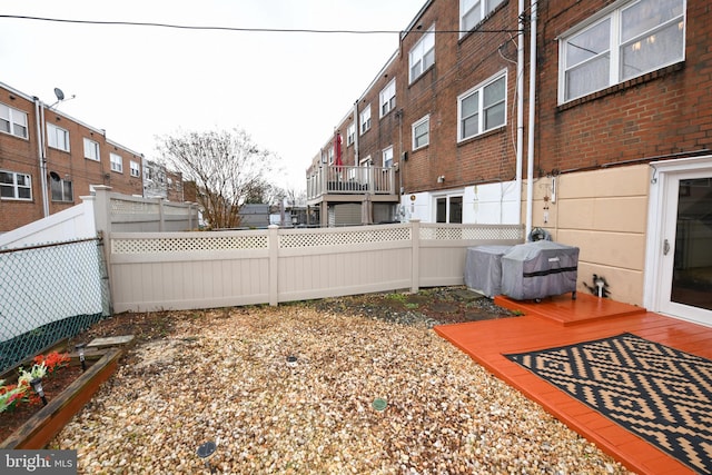
[[[548,240],[513,246],[502,256],[502,293],[516,300],[576,291],[578,248]]]

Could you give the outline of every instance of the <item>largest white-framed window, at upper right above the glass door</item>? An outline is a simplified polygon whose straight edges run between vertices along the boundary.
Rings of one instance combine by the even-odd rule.
[[[560,42],[560,102],[682,61],[684,0],[640,0],[576,27]]]

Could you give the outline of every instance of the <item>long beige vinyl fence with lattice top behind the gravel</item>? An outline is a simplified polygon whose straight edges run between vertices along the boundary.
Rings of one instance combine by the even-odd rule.
[[[463,285],[466,249],[524,241],[520,225],[111,232],[115,313],[269,304]]]

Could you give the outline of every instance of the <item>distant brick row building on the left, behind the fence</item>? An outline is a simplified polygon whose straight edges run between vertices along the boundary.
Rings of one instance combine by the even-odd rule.
[[[93,185],[187,200],[180,175],[110,140],[105,130],[0,83],[0,232],[80,202]]]

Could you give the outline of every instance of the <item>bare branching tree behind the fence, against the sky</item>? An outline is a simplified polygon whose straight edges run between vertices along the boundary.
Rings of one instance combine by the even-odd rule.
[[[164,159],[196,182],[198,202],[211,228],[239,226],[239,209],[258,195],[276,157],[243,129],[182,132],[159,138]]]

